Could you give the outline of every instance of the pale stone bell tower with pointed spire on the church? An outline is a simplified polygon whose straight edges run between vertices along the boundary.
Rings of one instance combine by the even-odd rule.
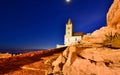
[[[64,38],[64,44],[69,45],[70,37],[73,35],[73,25],[71,19],[68,20],[68,23],[66,24],[66,34]]]

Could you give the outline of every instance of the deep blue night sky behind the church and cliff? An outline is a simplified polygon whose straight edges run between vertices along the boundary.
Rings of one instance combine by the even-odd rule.
[[[106,25],[113,0],[0,0],[0,48],[54,48],[63,44],[65,24],[75,32]]]

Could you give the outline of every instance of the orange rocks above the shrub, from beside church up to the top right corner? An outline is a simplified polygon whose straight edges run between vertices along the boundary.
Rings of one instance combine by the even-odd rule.
[[[91,35],[85,35],[82,43],[102,43],[106,35],[112,33],[120,34],[120,0],[114,0],[107,13],[107,26],[94,31]],[[87,39],[87,40],[86,40]]]

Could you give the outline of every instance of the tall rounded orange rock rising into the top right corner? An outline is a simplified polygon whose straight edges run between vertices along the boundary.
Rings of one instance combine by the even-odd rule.
[[[114,0],[107,14],[107,25],[120,29],[120,0]]]

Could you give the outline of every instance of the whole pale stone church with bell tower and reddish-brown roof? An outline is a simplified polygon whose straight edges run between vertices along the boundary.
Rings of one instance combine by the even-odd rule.
[[[64,45],[57,45],[57,48],[69,46],[72,43],[80,43],[84,33],[83,32],[73,32],[73,24],[71,19],[68,20],[66,24],[66,33],[64,36]]]

